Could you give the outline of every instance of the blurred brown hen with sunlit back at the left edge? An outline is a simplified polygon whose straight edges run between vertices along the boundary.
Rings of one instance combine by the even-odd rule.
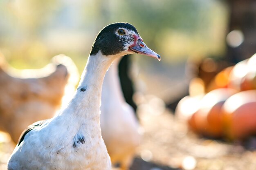
[[[52,118],[61,108],[65,90],[70,87],[74,92],[79,73],[65,55],[54,56],[40,69],[19,70],[10,66],[3,55],[0,60],[0,130],[17,144],[27,126]]]

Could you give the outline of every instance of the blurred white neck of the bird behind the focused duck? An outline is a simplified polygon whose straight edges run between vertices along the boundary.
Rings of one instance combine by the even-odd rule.
[[[120,60],[121,58],[115,60],[105,75],[102,89],[102,101],[115,102],[116,104],[125,102],[118,76],[118,64]],[[111,98],[111,101],[109,98]]]

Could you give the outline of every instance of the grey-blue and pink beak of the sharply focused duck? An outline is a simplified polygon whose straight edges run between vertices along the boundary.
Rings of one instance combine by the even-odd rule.
[[[129,48],[131,51],[133,51],[135,53],[139,53],[142,55],[148,55],[150,57],[156,58],[158,61],[161,60],[160,55],[158,55],[157,53],[155,53],[155,51],[148,48],[148,46],[146,46],[146,44],[143,42],[143,40],[141,38],[139,38],[137,40],[137,44],[130,46]]]

